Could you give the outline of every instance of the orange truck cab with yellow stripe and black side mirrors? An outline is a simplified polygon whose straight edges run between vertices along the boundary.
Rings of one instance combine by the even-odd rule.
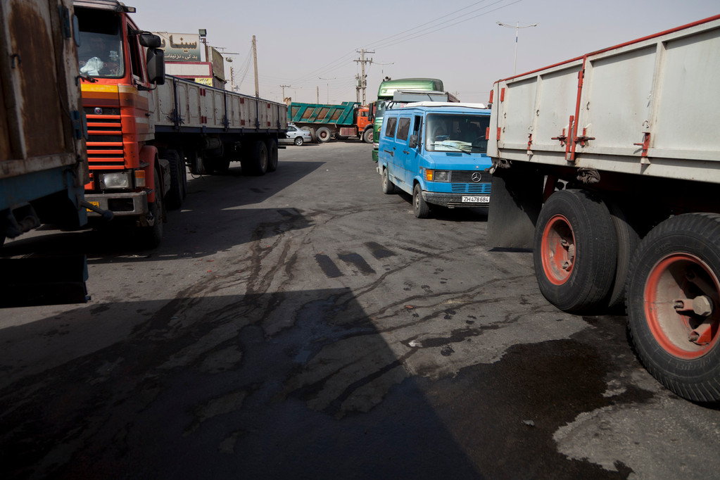
[[[135,219],[143,243],[154,247],[170,183],[167,163],[155,146],[146,145],[154,134],[152,90],[165,81],[161,40],[138,30],[127,15],[135,9],[119,1],[75,0],[74,7],[88,128],[85,199],[97,207],[89,217],[110,211]]]

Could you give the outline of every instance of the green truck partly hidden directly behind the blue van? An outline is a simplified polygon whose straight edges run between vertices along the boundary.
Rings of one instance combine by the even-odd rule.
[[[372,161],[377,163],[377,147],[379,142],[382,116],[385,110],[393,106],[408,104],[411,101],[458,101],[452,94],[444,91],[443,81],[438,78],[387,78],[380,82],[377,89],[377,102],[371,107],[374,114],[372,135]]]

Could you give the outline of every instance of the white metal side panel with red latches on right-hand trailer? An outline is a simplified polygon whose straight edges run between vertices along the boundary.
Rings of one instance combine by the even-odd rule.
[[[720,183],[718,52],[714,17],[498,81],[488,155]]]

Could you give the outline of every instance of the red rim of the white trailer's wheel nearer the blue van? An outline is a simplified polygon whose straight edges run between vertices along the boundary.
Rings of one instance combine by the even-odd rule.
[[[575,235],[567,218],[555,215],[542,233],[540,256],[546,278],[554,285],[562,285],[575,266]]]

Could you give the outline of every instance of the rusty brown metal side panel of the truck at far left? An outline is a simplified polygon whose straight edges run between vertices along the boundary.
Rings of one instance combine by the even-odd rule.
[[[0,2],[0,178],[73,164],[86,178],[71,118],[82,111],[76,46],[58,7],[71,19],[70,0]]]

